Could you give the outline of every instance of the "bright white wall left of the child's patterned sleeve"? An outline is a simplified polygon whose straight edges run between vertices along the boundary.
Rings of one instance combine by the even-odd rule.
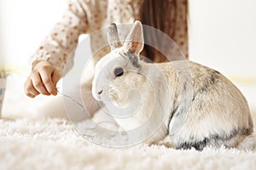
[[[12,71],[26,71],[30,56],[54,23],[67,0],[1,0],[0,62]]]

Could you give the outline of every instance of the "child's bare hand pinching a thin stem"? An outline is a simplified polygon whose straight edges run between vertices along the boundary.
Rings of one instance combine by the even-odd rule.
[[[60,80],[61,74],[48,61],[39,61],[34,65],[32,72],[27,78],[24,88],[25,94],[31,98],[38,94],[56,95],[56,83]]]

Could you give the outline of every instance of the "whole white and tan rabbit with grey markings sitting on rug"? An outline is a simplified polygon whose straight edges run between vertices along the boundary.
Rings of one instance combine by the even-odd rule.
[[[144,44],[138,20],[125,42],[114,23],[107,36],[111,52],[96,63],[92,95],[119,127],[137,129],[146,144],[175,149],[254,149],[247,100],[220,72],[189,60],[140,59]]]

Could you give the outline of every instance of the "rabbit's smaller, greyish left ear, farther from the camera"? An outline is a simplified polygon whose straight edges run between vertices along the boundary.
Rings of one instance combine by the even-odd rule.
[[[108,27],[108,43],[110,45],[111,50],[122,46],[122,43],[119,40],[119,34],[117,31],[117,27],[114,23],[112,23]]]

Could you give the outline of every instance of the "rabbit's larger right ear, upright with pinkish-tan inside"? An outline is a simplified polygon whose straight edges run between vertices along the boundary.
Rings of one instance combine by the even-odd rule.
[[[143,25],[140,21],[136,20],[130,33],[126,37],[124,48],[127,51],[131,51],[133,54],[139,54],[143,50],[143,46]]]

